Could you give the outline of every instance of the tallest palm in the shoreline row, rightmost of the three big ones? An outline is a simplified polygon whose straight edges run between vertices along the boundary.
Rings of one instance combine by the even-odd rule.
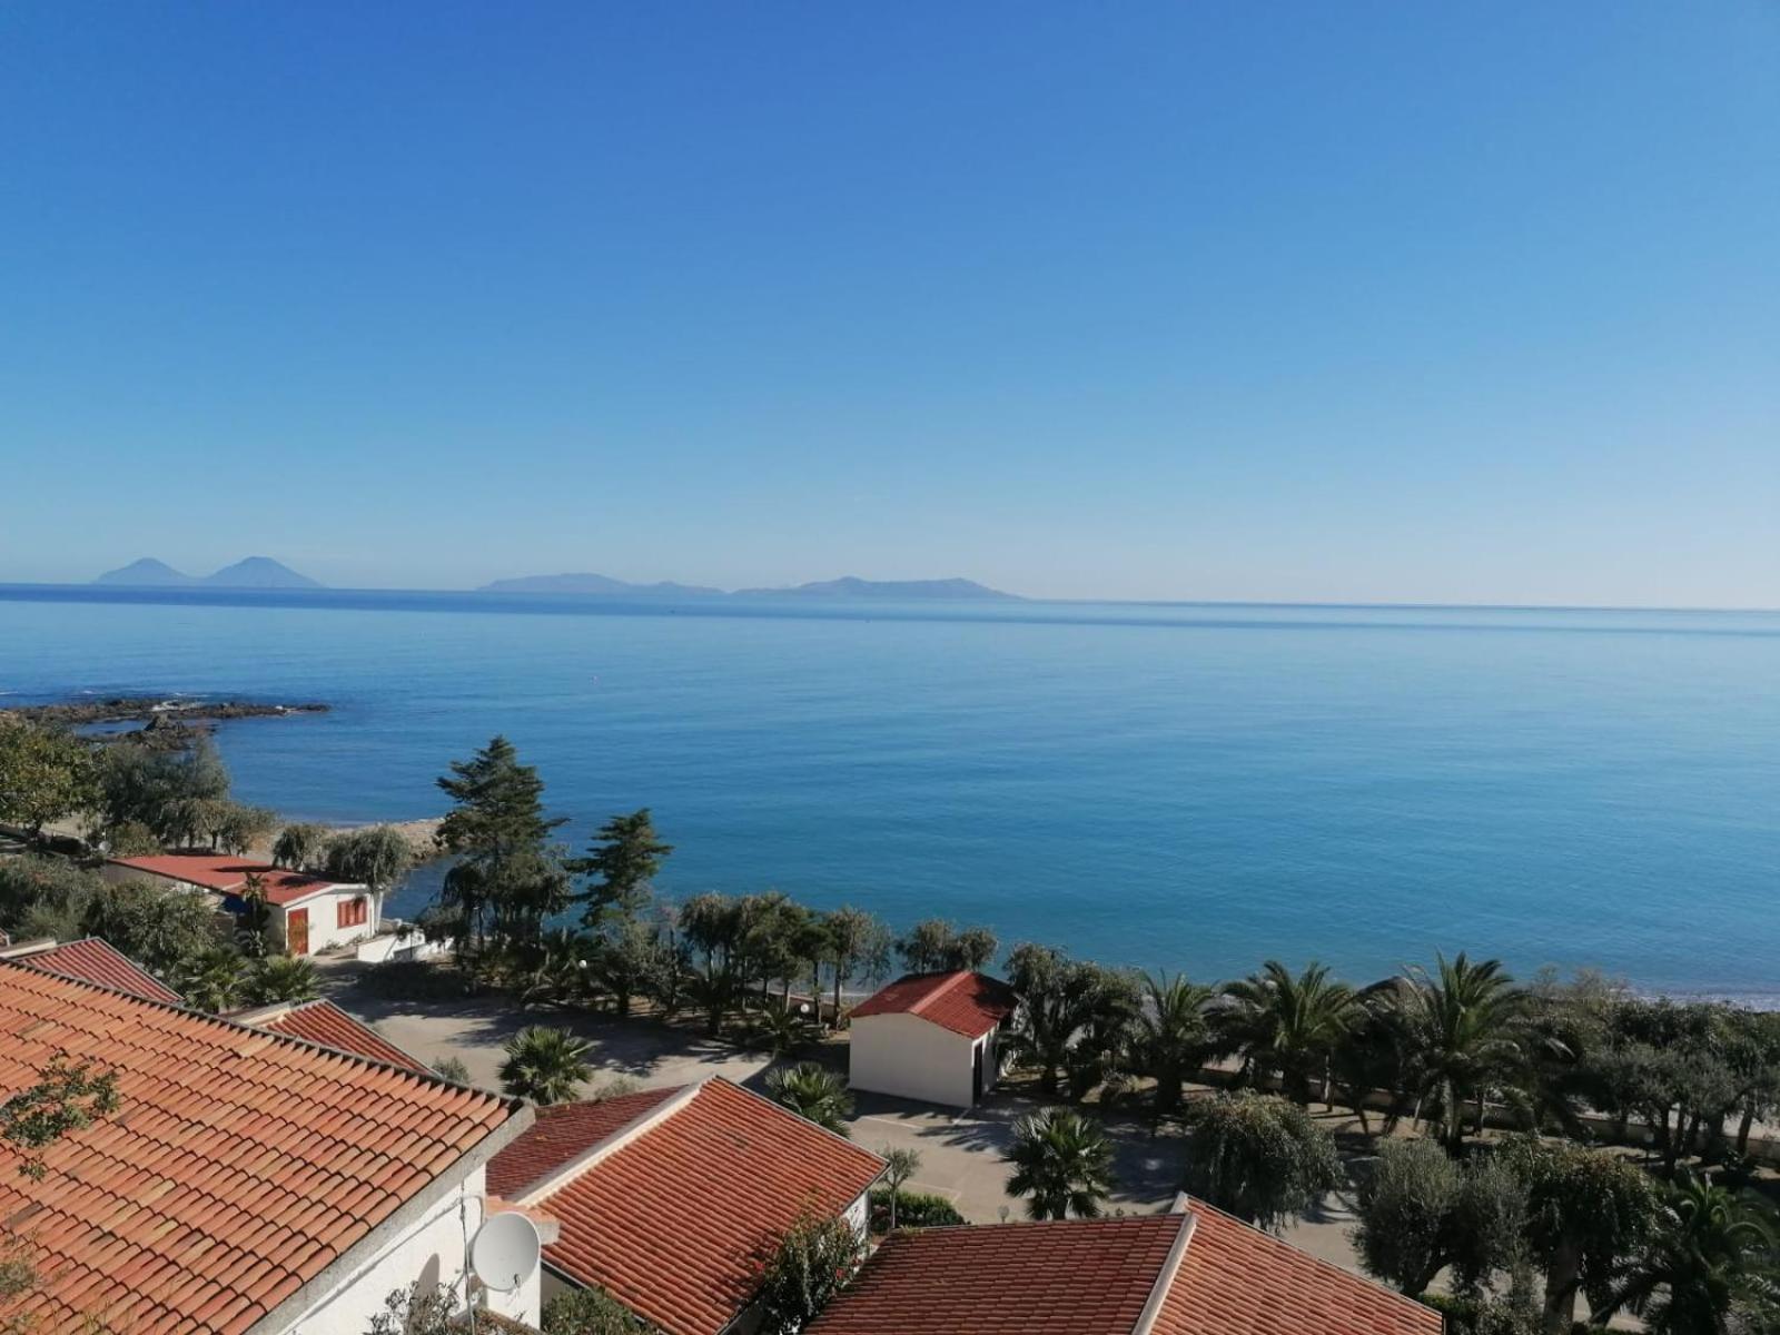
[[[1515,1079],[1525,1066],[1529,999],[1499,959],[1472,963],[1438,956],[1433,974],[1415,967],[1397,984],[1397,1015],[1417,1086],[1417,1116],[1438,1120],[1447,1150],[1465,1143],[1467,1102],[1501,1089],[1517,1096]]]

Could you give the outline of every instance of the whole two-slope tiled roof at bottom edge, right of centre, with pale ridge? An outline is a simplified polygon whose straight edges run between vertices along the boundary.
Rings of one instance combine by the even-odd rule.
[[[808,1335],[1440,1335],[1440,1314],[1191,1202],[899,1234]]]

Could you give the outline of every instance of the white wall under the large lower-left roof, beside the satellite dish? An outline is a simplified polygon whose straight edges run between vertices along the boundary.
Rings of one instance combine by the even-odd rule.
[[[390,1294],[397,1289],[406,1290],[413,1283],[422,1287],[443,1283],[465,1299],[470,1239],[482,1226],[482,1194],[484,1169],[477,1168],[457,1184],[456,1191],[434,1202],[376,1257],[285,1326],[281,1335],[361,1335],[370,1328],[372,1317],[384,1310]],[[539,1294],[541,1280],[538,1271],[532,1271],[532,1276],[513,1292],[484,1294],[482,1307],[536,1326]]]

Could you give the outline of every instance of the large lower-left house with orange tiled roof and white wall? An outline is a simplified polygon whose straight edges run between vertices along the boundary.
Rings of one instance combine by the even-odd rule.
[[[527,1212],[482,1239],[514,1212],[488,1164],[530,1107],[87,977],[114,974],[109,956],[0,959],[0,1091],[77,1052],[121,1096],[34,1177],[0,1141],[0,1242],[20,1225],[39,1274],[9,1310],[44,1331],[360,1335],[420,1285],[538,1324],[554,1226]]]

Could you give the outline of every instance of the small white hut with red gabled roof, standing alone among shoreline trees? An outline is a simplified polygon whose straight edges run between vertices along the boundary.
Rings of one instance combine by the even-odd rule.
[[[849,1079],[926,1104],[970,1107],[1000,1077],[1015,993],[988,974],[910,974],[853,1007]]]

